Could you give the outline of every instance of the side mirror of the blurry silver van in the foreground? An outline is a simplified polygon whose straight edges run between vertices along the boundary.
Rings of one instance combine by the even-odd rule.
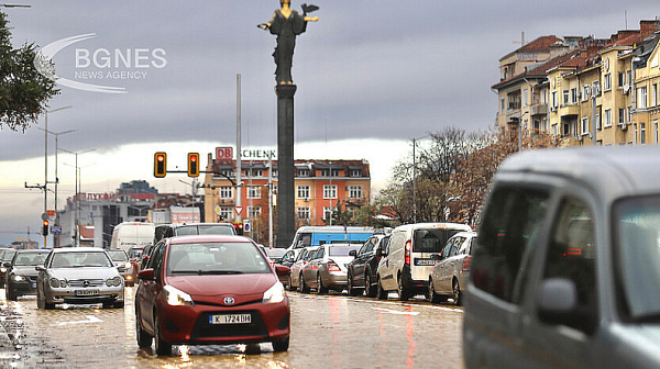
[[[580,320],[578,288],[571,280],[550,278],[541,282],[539,318],[548,324],[574,325]]]

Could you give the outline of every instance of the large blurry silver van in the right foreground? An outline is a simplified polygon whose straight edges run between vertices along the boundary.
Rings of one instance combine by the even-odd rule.
[[[660,367],[660,148],[526,150],[485,200],[465,368]]]

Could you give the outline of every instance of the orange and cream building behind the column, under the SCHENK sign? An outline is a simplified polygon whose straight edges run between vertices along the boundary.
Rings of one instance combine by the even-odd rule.
[[[369,204],[371,175],[369,161],[362,160],[295,160],[296,224],[323,225],[337,209],[354,211]],[[241,206],[235,183],[237,160],[212,158],[204,179],[205,217],[207,222],[233,222],[241,217],[265,223],[268,214],[268,190],[273,189],[273,205],[277,204],[277,160],[241,160]],[[268,171],[273,183],[268,186]],[[253,224],[254,224],[253,222]],[[267,224],[262,224],[267,226]],[[254,225],[253,225],[254,228]]]

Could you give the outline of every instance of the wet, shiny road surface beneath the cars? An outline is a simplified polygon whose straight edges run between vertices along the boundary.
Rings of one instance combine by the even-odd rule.
[[[292,340],[245,355],[242,345],[175,346],[172,357],[135,342],[134,288],[124,309],[36,309],[34,297],[7,301],[0,290],[2,368],[461,368],[463,312],[422,300],[402,303],[288,292]],[[396,294],[393,294],[395,297]]]

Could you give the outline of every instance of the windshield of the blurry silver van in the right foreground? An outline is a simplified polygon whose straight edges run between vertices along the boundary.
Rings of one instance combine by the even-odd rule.
[[[660,195],[619,201],[614,225],[624,314],[634,321],[660,320]]]

